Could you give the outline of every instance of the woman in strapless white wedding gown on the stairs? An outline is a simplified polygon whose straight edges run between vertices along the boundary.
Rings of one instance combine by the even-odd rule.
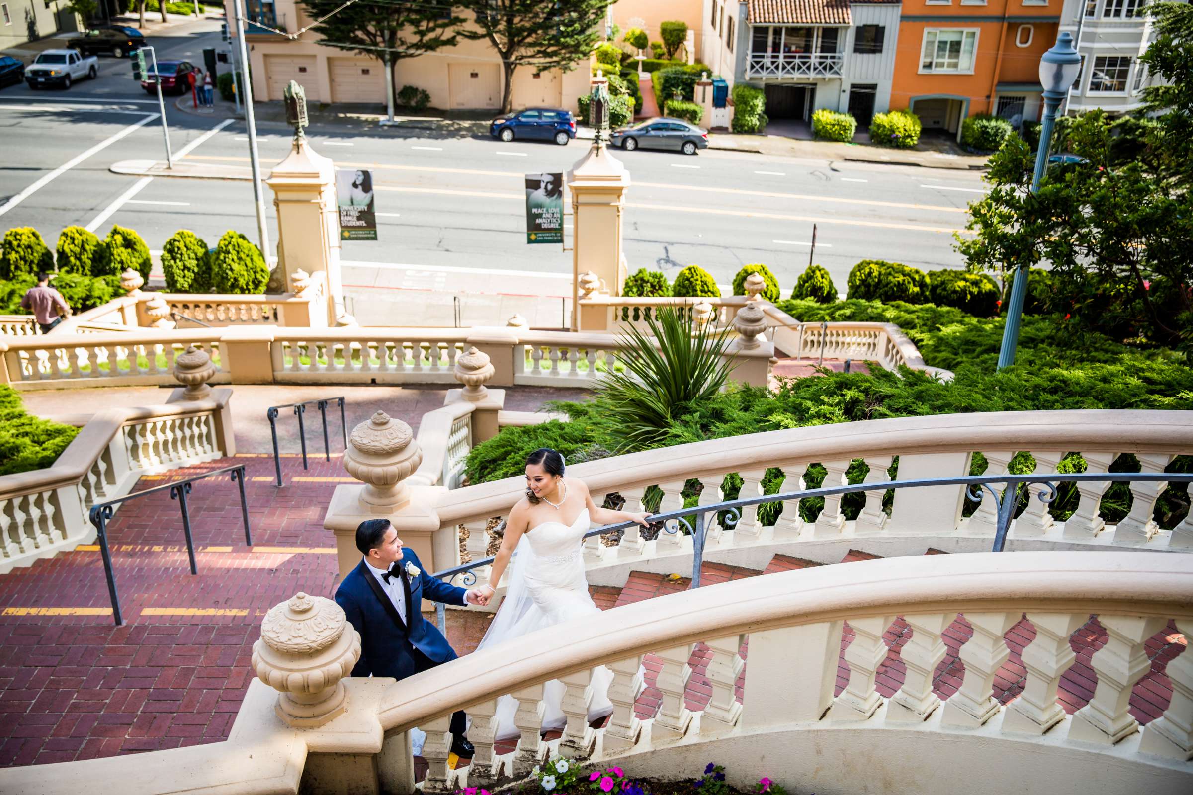
[[[598,508],[582,480],[563,477],[563,455],[558,451],[540,447],[531,453],[526,459],[526,496],[509,511],[489,583],[482,586],[482,598],[492,598],[508,567],[506,598],[477,651],[600,613],[588,595],[580,554],[585,533],[593,524],[626,521],[645,527],[649,524],[647,516],[649,514]],[[608,700],[612,678],[612,671],[605,666],[593,671],[589,722],[602,720],[613,712]],[[562,701],[563,683],[548,682],[543,688],[543,732],[563,728]],[[517,710],[518,701],[502,696],[497,703],[495,739],[518,735]]]

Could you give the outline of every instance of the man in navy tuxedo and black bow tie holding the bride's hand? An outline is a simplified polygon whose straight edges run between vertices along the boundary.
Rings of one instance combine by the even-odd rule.
[[[424,621],[421,600],[482,604],[480,592],[449,585],[422,571],[418,555],[402,546],[387,518],[360,522],[357,548],[364,560],[335,591],[335,603],[360,633],[360,660],[352,676],[404,679],[456,659],[439,629]],[[464,735],[466,720],[463,710],[451,716],[451,752],[471,758],[472,744]]]

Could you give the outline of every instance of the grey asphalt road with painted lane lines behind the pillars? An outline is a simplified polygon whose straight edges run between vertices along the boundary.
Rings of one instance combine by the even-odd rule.
[[[161,60],[202,61],[203,48],[218,44],[218,23],[185,24],[150,43]],[[212,246],[228,229],[255,241],[247,181],[109,170],[124,160],[163,160],[163,142],[156,99],[132,81],[129,63],[104,56],[100,69],[98,80],[69,91],[0,89],[0,230],[32,225],[52,246],[63,226],[80,224],[104,235],[118,223],[141,232],[154,250],[178,229],[191,229]],[[183,113],[172,98],[166,116],[175,156],[247,166],[243,122],[212,132],[220,118]],[[289,136],[270,125],[261,133],[267,167],[285,156]],[[338,167],[373,170],[379,240],[346,242],[345,260],[382,263],[377,273],[396,263],[441,268],[452,275],[440,279],[440,286],[457,290],[468,288],[459,277],[474,269],[570,272],[570,253],[525,242],[521,175],[567,170],[583,156],[587,142],[501,143],[359,123],[308,133]],[[765,262],[790,290],[808,266],[814,224],[815,261],[842,292],[848,269],[863,259],[926,269],[962,267],[953,232],[965,225],[966,204],[983,192],[979,175],[947,169],[721,150],[694,157],[641,150],[617,156],[631,174],[625,211],[631,271],[647,266],[674,277],[685,265],[698,263],[722,284],[741,265]],[[369,282],[367,269],[358,268],[354,281]]]

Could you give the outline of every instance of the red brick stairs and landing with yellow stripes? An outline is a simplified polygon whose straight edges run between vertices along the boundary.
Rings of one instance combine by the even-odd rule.
[[[253,676],[252,645],[265,611],[299,590],[326,596],[334,591],[334,545],[322,517],[335,485],[348,480],[335,458],[313,459],[309,471],[297,459],[284,459],[286,485],[277,489],[270,458],[237,456],[146,478],[138,489],[233,462],[247,465],[254,546],[243,544],[235,486],[224,480],[196,484],[190,501],[198,576],[190,573],[178,503],[168,493],[134,501],[116,514],[110,527],[128,622],[123,627],[112,626],[103,564],[93,547],[0,577],[0,712],[5,713],[0,765],[106,757],[228,737]],[[841,563],[874,557],[853,549]],[[705,564],[701,579],[715,585],[815,565],[786,555],[775,555],[762,571]],[[610,609],[688,585],[690,579],[678,573],[636,571],[623,588],[593,586],[592,594],[598,605]],[[487,614],[452,610],[449,640],[469,653],[487,626]],[[941,697],[960,685],[964,664],[958,650],[971,634],[964,617],[945,632],[948,652],[933,677]],[[909,635],[902,620],[884,635],[890,652],[877,676],[883,696],[902,685],[905,669],[900,651]],[[1010,656],[995,682],[995,696],[1003,703],[1022,690],[1026,672],[1020,654],[1034,629],[1022,621],[1005,638]],[[846,626],[837,692],[848,681],[843,651],[852,640],[853,631]],[[1070,642],[1077,659],[1061,682],[1061,701],[1071,713],[1093,695],[1098,677],[1090,656],[1106,642],[1106,632],[1090,619]],[[1151,671],[1131,697],[1131,713],[1141,723],[1167,708],[1172,685],[1164,669],[1183,644],[1172,623],[1148,641]],[[743,658],[747,651],[743,645]],[[686,700],[693,710],[711,695],[705,677],[709,656],[700,644],[690,659]],[[654,685],[660,666],[653,656],[644,660],[639,718],[651,718],[657,709],[660,691]],[[737,682],[738,697],[743,678],[744,673]]]

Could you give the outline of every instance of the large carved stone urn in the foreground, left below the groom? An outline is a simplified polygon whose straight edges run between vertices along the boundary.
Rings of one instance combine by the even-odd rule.
[[[253,644],[258,678],[282,692],[274,710],[296,727],[322,726],[347,709],[341,679],[358,659],[360,635],[344,609],[303,592],[265,614],[261,638]]]

